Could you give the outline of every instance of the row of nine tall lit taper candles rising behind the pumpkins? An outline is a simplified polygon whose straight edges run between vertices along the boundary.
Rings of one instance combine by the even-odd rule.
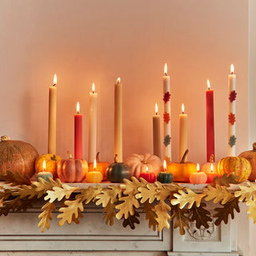
[[[231,65],[229,75],[229,142],[228,155],[235,155],[235,83],[234,66]],[[122,84],[120,78],[114,85],[114,155],[118,155],[118,162],[122,162]],[[48,153],[56,154],[56,95],[57,77],[54,75],[54,84],[49,87],[49,133]],[[210,82],[207,80],[206,90],[206,160],[210,162],[210,156],[214,155],[214,90],[210,89]],[[163,158],[170,158],[171,161],[171,126],[170,126],[170,76],[167,75],[165,64],[163,76],[163,137],[160,132],[161,118],[158,114],[158,106],[155,106],[153,116],[153,143],[154,154],[161,158],[161,149],[164,147]],[[89,142],[88,162],[94,162],[96,158],[96,131],[97,131],[97,93],[95,86],[90,92],[90,119],[89,119]],[[163,142],[163,144],[162,144]],[[187,114],[182,104],[182,114],[179,115],[179,158],[187,149]],[[77,103],[77,114],[74,115],[74,158],[82,158],[82,114],[79,114],[79,102]]]

